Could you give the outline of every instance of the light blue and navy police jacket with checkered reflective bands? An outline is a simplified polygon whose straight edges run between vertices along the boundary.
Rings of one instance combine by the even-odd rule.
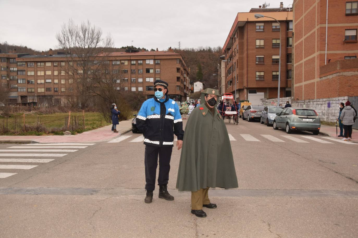
[[[156,97],[146,100],[140,108],[136,126],[144,135],[144,144],[173,147],[174,134],[183,140],[183,120],[179,106],[168,95],[163,102]]]

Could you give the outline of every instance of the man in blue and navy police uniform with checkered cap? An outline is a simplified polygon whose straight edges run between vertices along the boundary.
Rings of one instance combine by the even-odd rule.
[[[168,96],[168,83],[162,80],[154,82],[155,97],[146,100],[136,118],[136,125],[144,135],[145,155],[145,203],[153,200],[156,168],[159,155],[159,198],[174,200],[168,193],[170,158],[174,145],[174,134],[178,137],[176,147],[183,145],[183,121],[180,109]]]

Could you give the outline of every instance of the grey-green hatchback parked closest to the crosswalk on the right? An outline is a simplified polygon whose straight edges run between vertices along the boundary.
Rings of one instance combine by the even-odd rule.
[[[299,130],[310,131],[314,135],[318,135],[321,121],[313,109],[287,107],[282,112],[276,113],[273,127],[275,130],[285,129],[288,134],[293,130]]]

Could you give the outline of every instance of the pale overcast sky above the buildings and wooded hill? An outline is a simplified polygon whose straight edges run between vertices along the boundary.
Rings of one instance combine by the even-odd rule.
[[[237,12],[247,12],[264,0],[0,0],[0,42],[35,50],[56,48],[55,34],[72,18],[89,20],[111,33],[115,47],[133,45],[166,50],[223,46]],[[279,7],[280,1],[267,1]],[[285,2],[284,7],[292,4]]]

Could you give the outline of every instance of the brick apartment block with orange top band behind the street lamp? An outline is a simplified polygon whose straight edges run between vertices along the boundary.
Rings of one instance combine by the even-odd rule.
[[[274,17],[280,24],[267,17],[256,19],[255,14]],[[292,8],[283,7],[282,2],[276,8],[263,5],[239,12],[223,47],[227,61],[221,61],[225,63],[226,82],[222,92],[234,94],[236,81],[237,100],[258,103],[260,98],[277,97],[281,44],[280,96],[291,96],[292,25]]]

